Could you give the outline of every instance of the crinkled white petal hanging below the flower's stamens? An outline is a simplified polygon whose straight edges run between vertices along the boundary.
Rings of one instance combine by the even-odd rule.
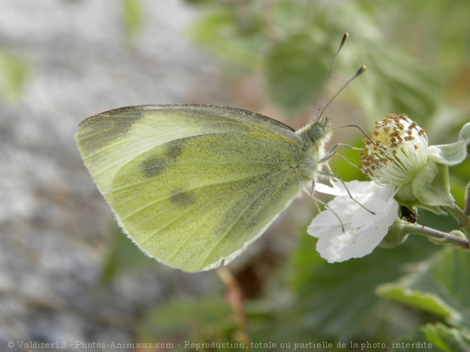
[[[308,234],[318,238],[317,251],[328,262],[343,262],[363,257],[382,241],[388,228],[397,218],[398,203],[393,199],[394,187],[379,186],[375,182],[346,183],[352,196],[375,215],[352,201],[344,186],[315,187],[315,191],[337,195],[327,208],[308,226]],[[328,190],[330,188],[330,190]]]

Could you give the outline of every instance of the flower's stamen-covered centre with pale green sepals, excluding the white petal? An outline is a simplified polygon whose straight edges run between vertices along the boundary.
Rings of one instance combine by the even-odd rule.
[[[387,114],[375,127],[360,154],[364,175],[395,187],[397,200],[412,208],[445,214],[441,207],[454,206],[447,166],[466,158],[470,123],[462,127],[457,142],[439,146],[428,146],[424,129],[405,114]]]

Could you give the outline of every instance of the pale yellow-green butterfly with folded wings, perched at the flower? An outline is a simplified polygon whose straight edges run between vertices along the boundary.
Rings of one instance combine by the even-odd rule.
[[[187,272],[231,262],[320,174],[334,176],[321,171],[335,154],[321,114],[296,132],[232,107],[142,105],[79,126],[80,154],[122,229]]]

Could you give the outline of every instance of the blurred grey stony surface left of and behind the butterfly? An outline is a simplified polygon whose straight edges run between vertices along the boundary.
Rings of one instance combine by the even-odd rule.
[[[115,225],[76,149],[77,124],[126,105],[219,101],[214,63],[187,39],[194,9],[142,1],[145,24],[129,42],[121,4],[0,0],[0,55],[32,68],[19,101],[0,97],[0,351],[132,341],[143,311],[214,285],[213,273],[157,263],[100,285]]]

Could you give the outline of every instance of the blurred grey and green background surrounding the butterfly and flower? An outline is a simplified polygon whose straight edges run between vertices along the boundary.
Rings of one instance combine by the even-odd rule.
[[[347,346],[338,351],[357,351],[353,343],[431,341],[427,324],[461,328],[376,289],[432,267],[441,247],[412,236],[329,265],[306,233],[317,211],[308,197],[229,271],[187,274],[148,259],[117,229],[74,134],[81,120],[116,107],[183,102],[239,107],[300,128],[316,116],[348,32],[323,105],[360,65],[367,71],[328,107],[333,123],[369,131],[385,114],[404,112],[431,144],[455,142],[470,120],[469,14],[464,0],[0,0],[0,350],[38,347],[17,341],[65,342],[60,351],[251,341],[271,343],[258,351],[308,342],[336,351],[340,341]],[[362,138],[336,129],[331,145],[362,146]],[[341,153],[358,164],[357,153]],[[339,158],[332,169],[360,177]],[[468,160],[451,169],[460,206],[469,174]],[[426,213],[419,223],[456,228]],[[455,282],[465,274],[454,273]],[[470,302],[462,297],[470,287],[459,289],[451,306],[466,312],[467,329]],[[137,345],[145,342],[158,345]],[[435,351],[460,351],[444,347]]]

